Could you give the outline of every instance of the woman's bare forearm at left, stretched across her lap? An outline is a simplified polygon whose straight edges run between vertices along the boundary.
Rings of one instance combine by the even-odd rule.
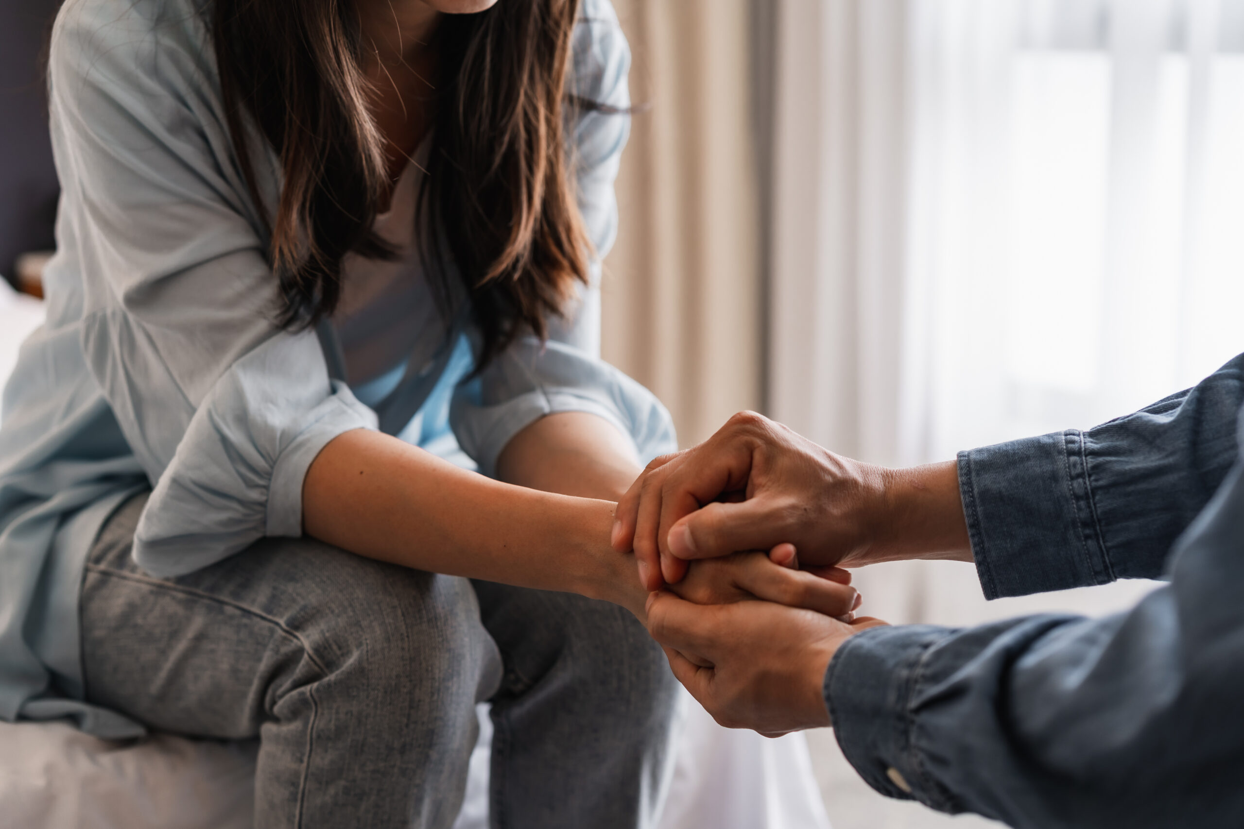
[[[565,590],[642,614],[634,566],[610,547],[615,505],[458,469],[379,433],[340,435],[307,470],[307,534],[417,569]]]

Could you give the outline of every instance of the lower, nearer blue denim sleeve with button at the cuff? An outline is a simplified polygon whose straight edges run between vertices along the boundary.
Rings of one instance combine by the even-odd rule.
[[[1021,829],[1244,825],[1244,464],[1128,613],[848,639],[825,694],[891,797]]]

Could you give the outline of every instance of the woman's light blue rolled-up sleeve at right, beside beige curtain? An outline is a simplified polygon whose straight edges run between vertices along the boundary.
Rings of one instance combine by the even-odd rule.
[[[631,52],[613,7],[583,4],[575,32],[572,88],[582,101],[573,123],[571,160],[577,199],[595,256],[590,285],[565,318],[550,321],[550,339],[519,338],[478,378],[458,387],[450,425],[463,450],[493,475],[506,444],[540,418],[586,411],[603,418],[634,442],[647,461],[677,447],[669,413],[646,388],[600,359],[600,260],[617,235],[613,183],[629,133],[627,73]]]

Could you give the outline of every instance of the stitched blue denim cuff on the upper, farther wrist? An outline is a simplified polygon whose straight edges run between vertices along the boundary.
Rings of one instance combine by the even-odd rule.
[[[986,599],[1115,580],[1079,430],[959,452],[959,492]]]

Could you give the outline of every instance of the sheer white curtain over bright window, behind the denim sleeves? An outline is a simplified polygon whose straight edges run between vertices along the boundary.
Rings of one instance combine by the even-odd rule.
[[[1244,1],[780,7],[775,416],[913,464],[1100,423],[1244,350]],[[948,623],[1143,589],[985,608],[965,569],[861,585]]]

